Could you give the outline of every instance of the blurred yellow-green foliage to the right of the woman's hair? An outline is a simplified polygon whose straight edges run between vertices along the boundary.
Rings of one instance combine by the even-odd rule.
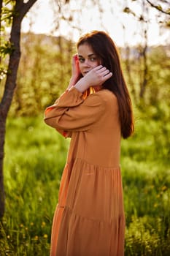
[[[152,105],[162,108],[159,107],[163,103],[162,99],[164,99],[166,105],[169,105],[169,50],[170,45],[147,48],[147,86],[144,97],[140,98],[140,85],[144,76],[144,64],[142,63],[142,55],[140,54],[141,45],[128,49],[128,57],[126,56],[127,49],[120,49],[125,80],[131,91],[134,104],[140,109],[146,107],[152,108]],[[129,79],[130,75],[131,79]]]

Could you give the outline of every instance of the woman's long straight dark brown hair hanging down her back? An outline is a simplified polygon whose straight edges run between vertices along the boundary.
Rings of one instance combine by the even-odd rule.
[[[77,48],[85,43],[90,45],[98,59],[101,60],[101,64],[113,74],[112,78],[103,84],[103,88],[109,89],[116,95],[119,105],[121,134],[123,138],[128,138],[134,132],[134,117],[131,97],[123,77],[115,43],[104,31],[90,31],[90,33],[83,35],[77,42]]]

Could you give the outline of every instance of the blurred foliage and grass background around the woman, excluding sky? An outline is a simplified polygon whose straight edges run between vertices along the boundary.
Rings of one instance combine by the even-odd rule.
[[[56,1],[58,6],[61,2]],[[63,1],[69,12],[65,4],[69,1]],[[132,13],[128,7],[123,11]],[[144,13],[135,16],[141,19],[142,43],[119,47],[135,116],[134,135],[122,141],[125,255],[166,256],[170,254],[170,44],[148,45]],[[166,31],[168,16],[161,12],[160,17]],[[21,34],[20,44],[17,87],[5,136],[0,255],[46,256],[69,140],[47,127],[43,116],[66,89],[76,49],[66,37],[31,31]],[[7,64],[8,56],[3,61]],[[0,99],[6,76],[1,72]]]

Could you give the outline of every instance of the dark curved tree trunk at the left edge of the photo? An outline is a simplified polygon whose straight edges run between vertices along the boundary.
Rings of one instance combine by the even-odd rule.
[[[4,94],[0,103],[0,218],[4,216],[4,178],[3,178],[3,160],[4,160],[4,140],[7,114],[12,103],[12,97],[16,87],[18,65],[20,62],[20,26],[26,12],[37,0],[29,0],[26,4],[23,0],[15,1],[15,15],[12,20],[12,29],[10,42],[12,44],[12,53],[9,56],[9,65],[7,80],[5,83]]]

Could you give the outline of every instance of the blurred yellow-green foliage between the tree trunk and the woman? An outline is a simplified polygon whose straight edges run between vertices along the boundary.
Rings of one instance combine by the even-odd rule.
[[[23,34],[21,47],[18,87],[10,113],[37,115],[66,88],[71,73],[72,42],[62,37]]]

